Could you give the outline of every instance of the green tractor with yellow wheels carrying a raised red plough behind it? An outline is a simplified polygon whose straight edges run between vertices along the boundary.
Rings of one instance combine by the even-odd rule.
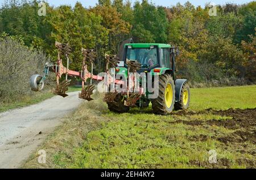
[[[82,48],[84,60],[80,72],[69,70],[71,48],[68,44],[56,42],[58,59],[56,65],[46,64],[44,76],[33,75],[30,79],[33,91],[42,90],[44,80],[49,71],[56,74],[56,88],[54,93],[63,97],[68,96],[70,80],[68,76],[82,79],[82,91],[79,98],[93,100],[90,96],[95,85],[92,79],[104,82],[105,98],[108,108],[112,112],[125,113],[130,107],[144,108],[152,104],[155,114],[170,114],[174,109],[188,109],[190,91],[186,79],[176,79],[175,58],[179,50],[168,44],[124,44],[121,53],[107,55],[105,75],[93,75],[87,66],[93,70],[93,61],[97,54],[94,50]],[[63,66],[61,58],[67,58],[67,67]],[[140,75],[138,78],[138,74]],[[61,75],[65,75],[63,82],[59,82]],[[90,85],[85,85],[90,79]],[[99,83],[100,84],[100,83]],[[149,85],[152,86],[152,88]],[[125,90],[125,91],[124,91]]]

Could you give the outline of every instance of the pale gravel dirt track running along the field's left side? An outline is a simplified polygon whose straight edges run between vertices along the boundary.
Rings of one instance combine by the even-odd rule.
[[[82,102],[78,92],[55,96],[39,104],[0,113],[0,168],[19,168],[61,118]]]

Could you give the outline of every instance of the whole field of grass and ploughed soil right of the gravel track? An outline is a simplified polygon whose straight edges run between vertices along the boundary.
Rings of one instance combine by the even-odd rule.
[[[256,85],[192,89],[191,110],[167,116],[111,113],[96,95],[39,148],[47,163],[35,153],[23,168],[256,168],[255,95]]]

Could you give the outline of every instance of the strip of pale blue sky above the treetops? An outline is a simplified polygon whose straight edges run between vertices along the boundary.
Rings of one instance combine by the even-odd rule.
[[[82,3],[84,7],[94,6],[98,2],[98,0],[46,0],[50,5],[53,6],[59,6],[59,5],[72,5],[74,6],[75,3],[79,1]],[[135,2],[138,0],[131,0],[131,2]],[[155,3],[155,5],[161,5],[161,6],[172,6],[176,5],[176,3],[180,2],[181,4],[184,4],[188,0],[148,0],[152,3]],[[205,3],[215,3],[216,5],[225,5],[226,2],[229,3],[236,3],[236,4],[243,4],[251,2],[252,0],[190,0],[189,2],[192,3],[194,6],[201,6],[204,7]],[[5,2],[5,0],[0,0],[0,5]]]

